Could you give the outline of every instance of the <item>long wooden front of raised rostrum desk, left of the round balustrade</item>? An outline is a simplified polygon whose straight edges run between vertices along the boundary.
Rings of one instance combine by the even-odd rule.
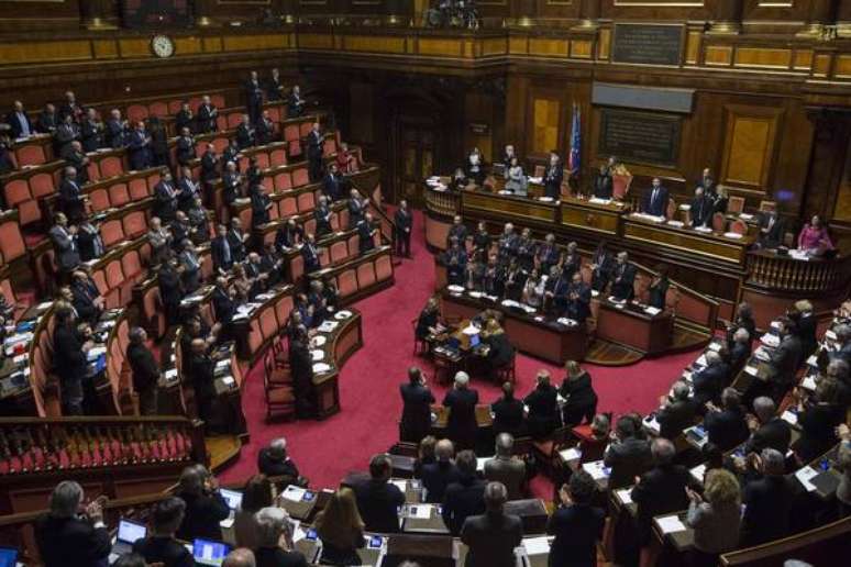
[[[723,234],[654,223],[634,215],[623,218],[623,237],[738,266],[744,266],[748,248],[753,244],[750,236],[729,238]]]

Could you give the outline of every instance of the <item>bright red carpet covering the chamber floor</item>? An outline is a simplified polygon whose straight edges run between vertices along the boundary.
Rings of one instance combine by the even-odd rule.
[[[432,368],[413,356],[411,320],[434,289],[434,263],[426,249],[422,215],[415,218],[413,259],[396,268],[396,284],[354,307],[363,315],[364,346],[345,364],[340,377],[342,411],[322,422],[299,421],[266,424],[262,367],[246,377],[243,409],[251,444],[240,459],[221,474],[223,481],[241,481],[256,472],[257,452],[277,436],[287,437],[289,452],[302,475],[313,487],[334,487],[353,469],[364,470],[369,457],[387,451],[398,440],[397,421],[401,414],[398,385],[407,379],[410,365],[420,366],[431,378]],[[679,354],[634,366],[608,368],[587,365],[600,398],[599,411],[615,414],[654,409],[679,370],[694,353]],[[532,387],[539,368],[549,368],[561,383],[562,371],[535,358],[518,356],[518,396]],[[431,382],[431,379],[430,379]],[[483,402],[498,397],[498,388],[473,380]],[[444,387],[432,385],[440,401]],[[541,478],[541,477],[539,477]],[[537,496],[550,499],[552,488],[545,481],[533,482]]]

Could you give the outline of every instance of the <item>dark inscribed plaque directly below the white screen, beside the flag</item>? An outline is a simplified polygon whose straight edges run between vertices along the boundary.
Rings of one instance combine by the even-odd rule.
[[[679,126],[679,116],[600,109],[598,153],[623,162],[676,166]]]

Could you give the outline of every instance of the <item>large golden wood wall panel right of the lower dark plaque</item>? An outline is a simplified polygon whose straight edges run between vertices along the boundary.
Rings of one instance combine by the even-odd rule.
[[[765,192],[774,159],[780,112],[761,107],[727,108],[721,179],[726,185]]]

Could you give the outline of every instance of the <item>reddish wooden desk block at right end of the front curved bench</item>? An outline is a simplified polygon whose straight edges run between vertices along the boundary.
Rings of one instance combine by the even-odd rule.
[[[671,346],[674,316],[668,312],[649,315],[627,303],[622,309],[600,299],[597,336],[646,354],[662,353]]]

